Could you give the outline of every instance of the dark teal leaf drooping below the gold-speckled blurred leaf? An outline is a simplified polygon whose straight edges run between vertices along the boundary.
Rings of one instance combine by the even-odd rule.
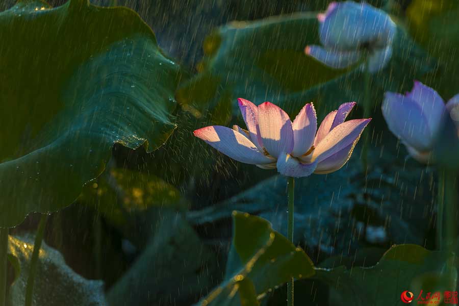
[[[217,256],[182,214],[157,211],[148,245],[108,292],[110,305],[191,305],[221,272]]]

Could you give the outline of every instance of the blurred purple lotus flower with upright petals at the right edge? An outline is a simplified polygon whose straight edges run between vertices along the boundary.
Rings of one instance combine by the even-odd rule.
[[[433,144],[442,125],[442,116],[448,111],[454,120],[459,115],[459,94],[445,105],[432,88],[415,81],[411,92],[404,95],[386,92],[382,115],[389,130],[405,145],[413,158],[427,163]],[[459,117],[456,117],[459,121]]]

